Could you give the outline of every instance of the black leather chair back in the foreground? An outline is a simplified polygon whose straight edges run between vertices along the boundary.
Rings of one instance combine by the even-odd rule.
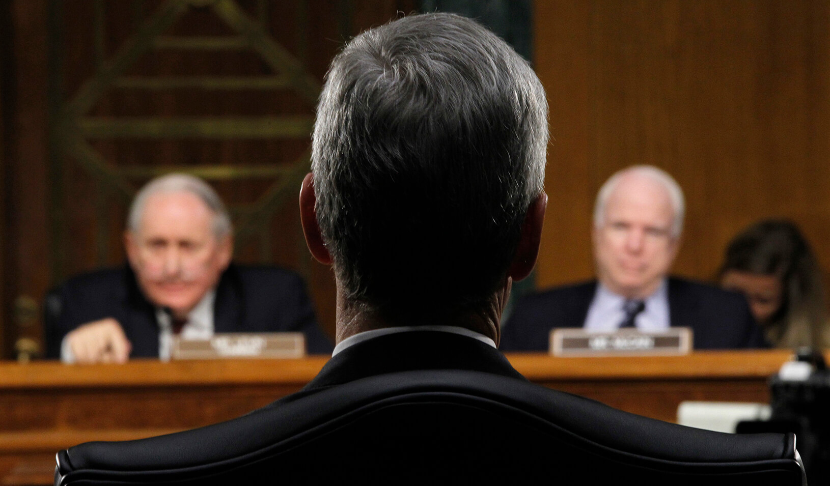
[[[804,484],[793,435],[634,416],[479,372],[402,372],[58,454],[56,484]],[[564,483],[561,483],[564,481]]]

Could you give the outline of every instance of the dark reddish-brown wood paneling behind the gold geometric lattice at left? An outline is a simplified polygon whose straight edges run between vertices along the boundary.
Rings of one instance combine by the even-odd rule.
[[[198,3],[198,2],[196,2]],[[125,256],[121,234],[129,197],[111,185],[96,182],[76,158],[50,163],[50,109],[71,100],[105,60],[129,44],[137,27],[169,5],[160,0],[11,0],[0,2],[2,15],[2,152],[7,170],[2,211],[2,320],[0,357],[15,355],[22,336],[40,338],[37,309],[43,294],[68,275],[100,265],[120,265]],[[295,56],[321,83],[342,43],[357,32],[412,12],[415,0],[237,0],[264,29]],[[341,18],[345,16],[345,18]],[[100,22],[98,22],[100,20]],[[102,27],[100,30],[96,26]],[[164,31],[166,36],[233,36],[212,5],[192,6]],[[50,36],[51,35],[51,36]],[[50,46],[49,39],[55,39]],[[50,49],[51,47],[51,49]],[[50,65],[50,60],[54,61]],[[51,68],[51,69],[50,69]],[[271,75],[271,67],[251,49],[244,51],[150,49],[125,75],[158,80],[164,76]],[[51,75],[51,79],[50,79]],[[311,119],[315,96],[291,90],[135,89],[105,90],[90,115],[108,120],[126,117],[292,115]],[[106,128],[106,127],[105,127]],[[306,139],[98,139],[90,146],[113,168],[137,166],[239,165],[290,166],[305,153]],[[54,158],[53,158],[54,159]],[[144,179],[146,180],[146,179]],[[143,179],[129,183],[139,187]],[[274,180],[214,180],[220,195],[244,214]],[[299,187],[299,182],[296,186]],[[50,206],[51,198],[56,204]],[[2,208],[0,208],[2,210]],[[52,211],[55,210],[55,211]],[[56,216],[56,217],[52,217]],[[330,270],[316,264],[305,250],[296,196],[267,218],[255,218],[264,230],[237,246],[243,263],[275,263],[303,274],[309,283],[318,317],[334,328],[334,283]],[[238,218],[237,218],[238,222]],[[99,224],[100,223],[100,224]],[[103,228],[101,230],[100,228]],[[103,236],[102,236],[103,235]],[[17,325],[15,302],[23,299],[35,318],[26,328]],[[32,313],[30,312],[29,315]]]

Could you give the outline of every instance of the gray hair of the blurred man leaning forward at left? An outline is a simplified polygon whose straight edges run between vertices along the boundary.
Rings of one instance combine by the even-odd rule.
[[[189,192],[205,203],[213,213],[213,235],[217,239],[228,236],[233,231],[231,216],[227,213],[225,204],[213,187],[199,177],[189,174],[172,173],[156,177],[142,187],[135,195],[127,216],[127,229],[139,231],[141,216],[144,215],[144,206],[147,199],[159,192]]]

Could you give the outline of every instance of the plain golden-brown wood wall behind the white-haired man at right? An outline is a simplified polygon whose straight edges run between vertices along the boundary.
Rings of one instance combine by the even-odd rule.
[[[593,198],[620,168],[666,169],[686,192],[674,271],[710,279],[726,243],[792,218],[830,265],[830,3],[535,3],[550,104],[546,287],[593,275]]]

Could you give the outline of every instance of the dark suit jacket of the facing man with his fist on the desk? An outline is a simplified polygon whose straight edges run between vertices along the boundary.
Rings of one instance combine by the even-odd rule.
[[[66,281],[60,289],[61,317],[46,329],[46,357],[60,357],[66,333],[81,324],[115,318],[133,344],[130,357],[159,356],[155,309],[125,265],[98,270]],[[320,330],[305,284],[299,275],[275,267],[230,265],[217,284],[213,309],[216,333],[305,333],[310,353],[329,353],[332,345]]]

